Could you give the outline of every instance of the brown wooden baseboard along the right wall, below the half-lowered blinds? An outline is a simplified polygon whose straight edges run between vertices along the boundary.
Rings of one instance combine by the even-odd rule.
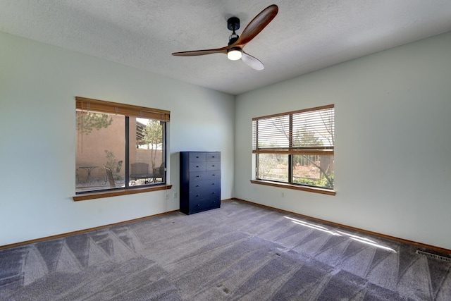
[[[233,198],[233,199],[235,199],[237,201],[240,201],[240,202],[245,202],[245,203],[252,204],[252,205],[255,205],[255,206],[263,207],[263,208],[266,208],[266,209],[280,211],[280,212],[287,213],[287,214],[293,214],[295,216],[299,216],[299,217],[302,217],[304,219],[311,219],[312,221],[318,221],[320,223],[326,223],[326,224],[329,224],[330,226],[344,228],[344,229],[347,229],[347,230],[350,230],[350,231],[359,231],[359,232],[362,232],[362,233],[365,233],[365,234],[368,234],[368,235],[373,235],[373,236],[380,237],[380,238],[386,238],[386,239],[389,239],[389,240],[395,240],[397,242],[402,242],[402,243],[405,243],[405,244],[408,244],[408,245],[414,245],[416,247],[421,247],[421,248],[424,248],[424,249],[427,249],[427,250],[433,250],[435,252],[440,252],[440,253],[443,253],[443,254],[447,254],[448,256],[451,255],[451,250],[445,249],[443,247],[436,247],[434,245],[426,245],[424,243],[415,242],[413,240],[405,240],[404,238],[397,238],[395,236],[385,235],[385,234],[377,233],[377,232],[373,232],[373,231],[367,231],[367,230],[360,229],[360,228],[355,228],[355,227],[352,227],[352,226],[346,226],[346,225],[343,225],[341,223],[334,223],[332,221],[326,221],[326,220],[323,220],[323,219],[316,219],[314,217],[307,216],[307,215],[304,215],[304,214],[297,214],[295,212],[291,212],[291,211],[287,211],[287,210],[283,210],[283,209],[278,209],[276,207],[269,207],[269,206],[266,206],[266,205],[262,205],[262,204],[258,204],[258,203],[254,203],[254,202],[249,202],[249,201],[247,201],[245,199],[238,199],[238,198]],[[230,200],[233,200],[233,199],[230,199]]]

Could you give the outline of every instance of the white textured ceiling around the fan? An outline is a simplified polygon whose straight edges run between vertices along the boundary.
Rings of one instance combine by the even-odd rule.
[[[279,2],[279,3],[278,3]],[[0,31],[240,94],[451,30],[450,0],[0,0]],[[245,51],[254,70],[223,54],[227,19],[245,26],[266,6],[276,18]]]

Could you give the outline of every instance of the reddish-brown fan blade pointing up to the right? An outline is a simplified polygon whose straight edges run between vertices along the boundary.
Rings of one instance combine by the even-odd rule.
[[[261,30],[268,25],[273,18],[276,17],[279,11],[278,6],[273,4],[265,8],[261,13],[255,16],[254,19],[246,26],[245,30],[242,31],[241,36],[237,39],[237,42],[233,46],[244,47],[245,44],[249,43],[254,37],[256,37]]]

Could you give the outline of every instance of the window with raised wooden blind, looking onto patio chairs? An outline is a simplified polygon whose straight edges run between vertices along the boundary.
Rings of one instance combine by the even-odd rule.
[[[75,100],[76,195],[166,184],[169,111]]]

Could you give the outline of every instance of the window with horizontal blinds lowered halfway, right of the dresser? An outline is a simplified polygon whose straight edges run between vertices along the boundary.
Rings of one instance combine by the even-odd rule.
[[[333,190],[334,115],[332,104],[253,118],[255,178],[269,185]]]

